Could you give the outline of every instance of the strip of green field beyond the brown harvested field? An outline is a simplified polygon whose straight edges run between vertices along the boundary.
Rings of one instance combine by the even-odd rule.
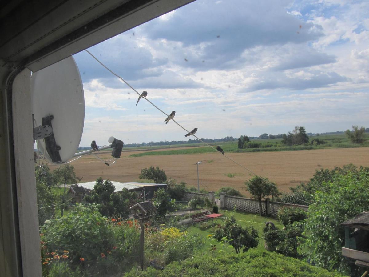
[[[248,149],[238,149],[237,141],[233,142],[219,142],[219,143],[209,143],[211,146],[216,147],[219,145],[226,153],[234,153],[234,152],[269,152],[269,151],[296,151],[296,150],[312,150],[312,149],[329,149],[329,148],[352,148],[352,147],[369,147],[369,133],[365,133],[365,141],[361,144],[352,143],[349,138],[345,134],[333,134],[327,136],[314,136],[310,137],[309,141],[312,141],[314,138],[318,138],[319,140],[324,140],[324,144],[320,145],[299,145],[299,146],[284,146],[281,141],[281,138],[276,139],[255,139],[251,140],[253,142],[261,143],[262,146],[268,145],[268,147],[260,147],[260,148],[248,148]],[[184,148],[190,146],[197,146],[196,148]],[[202,147],[200,147],[202,146]],[[183,149],[170,150],[170,147],[183,147]],[[152,147],[135,147],[141,148],[141,150],[152,150]],[[175,146],[166,146],[163,147],[163,151],[143,151],[142,153],[131,154],[129,157],[142,157],[149,155],[179,155],[179,154],[200,154],[200,153],[211,153],[215,152],[211,147],[206,146],[203,143],[196,144],[178,144]]]

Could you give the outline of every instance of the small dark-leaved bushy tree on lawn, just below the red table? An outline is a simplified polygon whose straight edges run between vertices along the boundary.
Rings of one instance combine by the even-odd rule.
[[[232,215],[231,218],[225,219],[222,226],[215,229],[215,239],[227,241],[233,246],[236,253],[246,252],[250,248],[255,248],[259,244],[259,232],[253,226],[243,228],[236,223],[236,219]]]

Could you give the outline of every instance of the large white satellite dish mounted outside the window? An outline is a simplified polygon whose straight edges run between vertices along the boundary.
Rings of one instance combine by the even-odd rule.
[[[32,73],[31,94],[39,151],[50,163],[67,162],[79,146],[85,121],[82,80],[73,57]]]

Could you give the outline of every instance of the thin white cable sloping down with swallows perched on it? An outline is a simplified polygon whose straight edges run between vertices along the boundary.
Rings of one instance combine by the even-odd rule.
[[[102,62],[99,61],[99,59],[97,59],[91,52],[89,52],[88,50],[85,49],[85,51],[87,53],[89,53],[94,59],[96,59],[97,62],[99,62],[99,64],[101,64],[102,66],[104,66],[104,68],[106,68],[109,72],[111,72],[114,76],[117,76],[119,79],[121,79],[127,86],[129,86],[134,92],[136,92],[139,96],[141,96],[140,93],[137,92],[137,90],[135,90],[129,83],[127,83],[121,76],[119,76],[118,74],[114,73],[113,71],[111,71],[106,65],[104,65]],[[149,99],[142,97],[143,99],[145,99],[146,101],[148,101],[152,106],[156,107],[156,109],[158,109],[159,111],[161,111],[163,114],[165,114],[166,116],[169,117],[168,114],[166,114],[165,112],[163,112],[161,109],[159,109],[154,103],[152,103]],[[179,127],[181,127],[183,130],[185,130],[187,133],[191,133],[190,131],[186,130],[184,127],[182,127],[182,125],[180,125],[179,123],[177,123],[174,119],[172,119]],[[192,136],[196,137],[194,134],[192,134]],[[201,141],[202,143],[206,144],[207,146],[209,146],[210,148],[212,148],[214,151],[220,153],[216,148],[214,148],[213,146],[211,146],[210,144],[206,143],[205,141],[201,140],[200,138],[196,137],[199,141]],[[222,154],[222,153],[220,153]],[[222,154],[223,157],[226,157],[227,159],[231,160],[232,162],[234,162],[235,164],[238,164],[240,167],[244,168],[245,170],[251,172],[252,174],[254,174],[256,177],[261,178],[263,181],[267,182],[268,184],[279,188],[281,191],[286,192],[287,194],[289,192],[285,191],[284,189],[278,187],[277,185],[273,184],[272,182],[270,182],[269,180],[260,177],[259,175],[255,174],[254,172],[252,172],[251,170],[249,170],[248,168],[244,167],[243,165],[237,163],[237,161],[233,160],[232,158],[228,157],[227,155]],[[114,161],[115,162],[115,161]],[[293,195],[293,194],[292,194]],[[298,198],[296,195],[293,195],[296,199],[299,199],[302,202],[307,203],[308,205],[310,205],[311,203]]]

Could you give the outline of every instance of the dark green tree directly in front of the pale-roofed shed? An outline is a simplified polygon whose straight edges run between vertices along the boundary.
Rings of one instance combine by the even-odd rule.
[[[104,181],[101,177],[97,178],[93,191],[90,195],[85,196],[85,201],[100,204],[99,212],[102,215],[127,218],[130,213],[129,206],[137,202],[137,194],[126,188],[115,193],[114,190],[115,187],[109,180]]]

